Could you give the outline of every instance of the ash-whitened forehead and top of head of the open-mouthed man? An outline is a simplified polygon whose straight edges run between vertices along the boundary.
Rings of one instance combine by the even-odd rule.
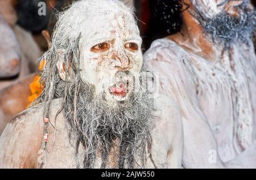
[[[77,44],[94,41],[92,37],[95,34],[106,40],[114,31],[126,39],[129,39],[130,35],[139,36],[138,26],[130,7],[117,0],[77,1],[58,15],[52,47],[73,49]]]

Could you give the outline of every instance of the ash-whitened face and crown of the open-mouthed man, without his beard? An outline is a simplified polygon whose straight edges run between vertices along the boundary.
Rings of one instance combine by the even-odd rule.
[[[71,19],[70,16],[76,18]],[[54,38],[59,41],[57,38],[61,37],[61,41],[67,34],[70,39],[81,37],[79,61],[82,81],[93,85],[96,95],[105,92],[109,101],[127,99],[128,77],[127,82],[123,80],[116,85],[115,77],[118,72],[135,76],[142,68],[142,39],[131,10],[115,1],[81,1],[61,19],[61,32],[56,32],[53,43]],[[59,36],[61,34],[65,35]]]

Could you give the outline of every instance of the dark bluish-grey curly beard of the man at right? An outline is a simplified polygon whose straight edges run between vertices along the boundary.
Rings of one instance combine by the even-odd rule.
[[[193,16],[199,20],[204,31],[212,36],[214,43],[224,43],[225,48],[230,48],[234,41],[240,41],[249,45],[250,39],[253,38],[256,30],[256,11],[247,9],[248,1],[237,6],[241,10],[239,17],[229,15],[225,10],[214,18],[206,18],[200,11],[200,7],[196,7],[196,12],[192,12]]]

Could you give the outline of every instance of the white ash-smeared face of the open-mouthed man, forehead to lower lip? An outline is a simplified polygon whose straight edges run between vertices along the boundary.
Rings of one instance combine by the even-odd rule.
[[[81,31],[81,78],[96,87],[96,94],[105,91],[109,100],[122,101],[130,93],[126,75],[142,68],[142,39],[134,17],[106,3],[104,10],[92,9],[85,24],[90,25]]]

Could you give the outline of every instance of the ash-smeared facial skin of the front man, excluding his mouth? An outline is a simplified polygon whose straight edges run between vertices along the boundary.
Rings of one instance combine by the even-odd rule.
[[[102,22],[105,18],[105,16],[94,17],[95,20],[101,19]],[[81,78],[96,86],[96,94],[101,93],[102,90],[108,91],[109,87],[114,85],[114,80],[111,78],[117,72],[127,71],[136,74],[142,68],[142,52],[140,51],[142,39],[133,16],[119,12],[109,18],[111,19],[109,24],[106,23],[104,27],[101,23],[93,23],[92,28],[96,31],[83,36],[90,39],[89,43],[83,43],[82,40],[81,66],[85,68],[81,71]],[[108,47],[102,50],[97,49],[97,44],[104,44]],[[107,95],[109,96],[109,93]],[[112,98],[109,96],[109,99]]]

